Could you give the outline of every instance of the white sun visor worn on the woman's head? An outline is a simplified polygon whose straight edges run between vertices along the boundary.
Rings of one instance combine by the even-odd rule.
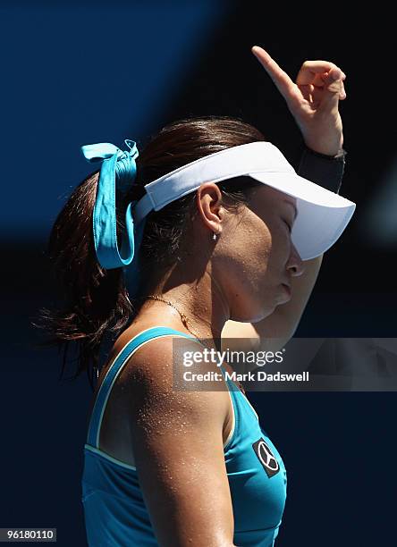
[[[298,215],[291,240],[302,260],[318,257],[332,247],[356,207],[349,199],[300,177],[275,145],[257,141],[201,157],[149,182],[144,187],[146,195],[132,209],[134,223],[153,209],[159,211],[190,194],[203,182],[239,176],[249,176],[296,198]]]

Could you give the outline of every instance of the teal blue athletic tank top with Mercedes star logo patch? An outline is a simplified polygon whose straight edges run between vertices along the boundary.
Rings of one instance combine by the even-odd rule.
[[[106,401],[131,353],[149,339],[170,335],[193,338],[163,326],[140,332],[114,359],[97,392],[84,445],[81,477],[81,501],[89,546],[158,546],[139,489],[136,467],[99,450],[98,441]],[[271,547],[283,517],[287,484],[285,467],[274,444],[259,425],[258,414],[247,397],[236,389],[230,378],[226,383],[234,414],[232,431],[224,445],[234,516],[233,542],[239,547]]]

